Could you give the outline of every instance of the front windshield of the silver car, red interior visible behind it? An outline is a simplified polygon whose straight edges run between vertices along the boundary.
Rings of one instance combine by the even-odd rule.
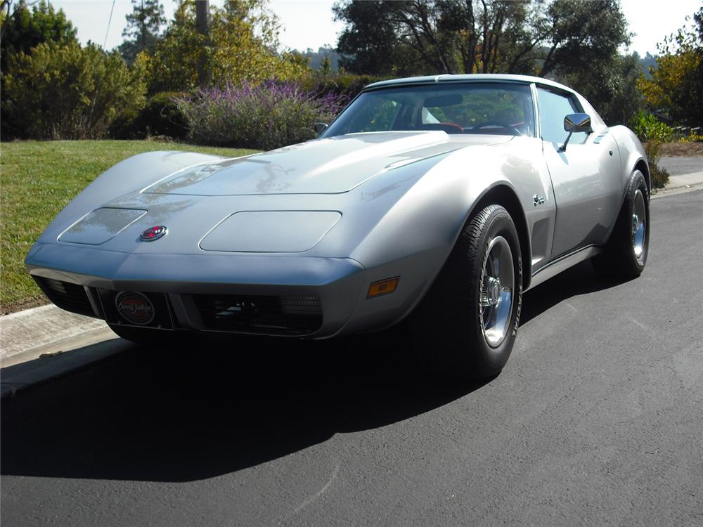
[[[500,82],[367,91],[342,112],[323,137],[396,130],[534,137],[532,94],[527,84]]]

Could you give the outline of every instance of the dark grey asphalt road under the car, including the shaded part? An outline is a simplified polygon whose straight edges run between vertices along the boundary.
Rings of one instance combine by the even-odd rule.
[[[4,400],[2,525],[701,526],[702,212],[652,202],[637,280],[527,293],[482,386],[389,333],[135,346]]]

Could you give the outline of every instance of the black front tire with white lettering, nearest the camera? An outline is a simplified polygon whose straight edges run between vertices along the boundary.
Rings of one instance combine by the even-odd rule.
[[[503,262],[500,273],[491,267],[496,256]],[[494,274],[500,278],[498,285],[491,278]],[[508,278],[512,279],[509,300],[504,290]],[[487,305],[491,301],[497,304]],[[497,375],[515,343],[521,306],[520,239],[508,211],[490,205],[472,216],[430,292],[411,315],[409,330],[418,358],[442,377],[479,380]],[[501,309],[503,315],[496,320],[505,322],[496,323],[496,331],[490,322]]]

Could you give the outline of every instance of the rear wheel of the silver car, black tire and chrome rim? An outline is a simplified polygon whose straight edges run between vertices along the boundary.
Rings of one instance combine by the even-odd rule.
[[[636,170],[628,183],[610,240],[605,250],[593,257],[593,267],[608,278],[637,278],[647,263],[649,246],[650,195],[645,176]]]

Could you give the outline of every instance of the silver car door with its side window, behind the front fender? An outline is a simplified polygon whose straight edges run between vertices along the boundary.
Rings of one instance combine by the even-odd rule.
[[[573,93],[536,86],[542,150],[556,203],[552,257],[605,242],[619,209],[620,155],[609,134],[568,133],[564,117],[583,112]]]

